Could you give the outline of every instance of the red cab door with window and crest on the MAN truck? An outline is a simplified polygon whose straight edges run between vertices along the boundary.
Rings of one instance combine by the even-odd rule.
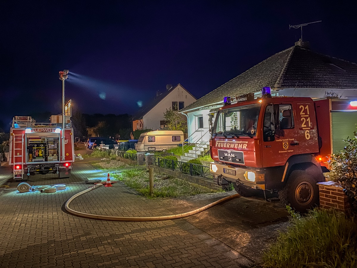
[[[298,127],[295,126],[293,105],[268,104],[263,117],[263,167],[284,165],[287,159],[299,154]]]

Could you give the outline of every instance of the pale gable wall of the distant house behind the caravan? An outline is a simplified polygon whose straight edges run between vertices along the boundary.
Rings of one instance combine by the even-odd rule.
[[[156,130],[160,129],[160,120],[164,120],[164,113],[166,109],[172,108],[172,101],[183,101],[184,106],[193,103],[196,99],[189,94],[180,85],[172,89],[171,92],[162,99],[154,108],[152,108],[147,114],[144,115],[144,128]],[[136,124],[135,124],[136,126]]]

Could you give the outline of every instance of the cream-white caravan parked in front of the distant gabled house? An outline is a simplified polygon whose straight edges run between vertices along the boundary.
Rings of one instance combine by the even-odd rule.
[[[137,152],[166,151],[183,142],[181,130],[155,130],[141,133],[135,144]]]

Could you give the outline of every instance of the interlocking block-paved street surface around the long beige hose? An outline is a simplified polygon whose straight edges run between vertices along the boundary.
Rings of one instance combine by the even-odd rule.
[[[87,179],[106,180],[106,174],[75,163],[71,178],[47,174],[27,182],[67,185],[56,193],[19,193],[14,182],[1,187],[0,267],[252,267],[277,230],[287,226],[282,207],[243,197],[190,217],[154,222],[102,221],[66,212],[64,204],[88,188]],[[0,180],[9,176],[11,170],[1,167]],[[230,194],[146,199],[119,182],[81,195],[70,207],[91,214],[149,217],[187,212]]]

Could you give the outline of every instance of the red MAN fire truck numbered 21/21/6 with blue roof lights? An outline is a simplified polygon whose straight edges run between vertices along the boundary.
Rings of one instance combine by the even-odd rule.
[[[230,96],[223,103],[210,139],[218,184],[231,182],[245,197],[277,192],[299,212],[316,206],[329,157],[356,130],[357,101],[272,97],[265,87],[261,98]]]

